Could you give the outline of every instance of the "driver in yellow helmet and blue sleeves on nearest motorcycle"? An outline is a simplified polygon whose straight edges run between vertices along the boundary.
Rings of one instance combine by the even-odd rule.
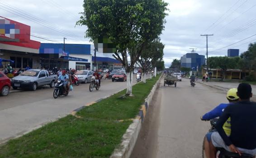
[[[208,120],[211,120],[213,118],[219,117],[223,113],[224,109],[226,107],[228,107],[228,105],[231,105],[234,102],[238,102],[239,97],[237,96],[237,88],[231,88],[231,89],[228,90],[227,99],[228,99],[229,104],[228,103],[219,104],[213,110],[204,114],[204,116],[201,117],[201,120],[208,121]],[[223,125],[223,130],[225,131],[225,133],[228,136],[230,135],[230,133],[231,133],[230,118]],[[210,143],[212,133],[213,132],[208,132],[205,135],[205,139],[204,139],[204,151],[205,151],[205,154],[206,154],[207,158],[210,158],[210,144],[209,143]]]

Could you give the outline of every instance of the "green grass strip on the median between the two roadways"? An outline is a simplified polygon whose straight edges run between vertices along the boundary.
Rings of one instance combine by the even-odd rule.
[[[79,117],[68,115],[10,140],[0,158],[109,158],[159,77],[134,85],[132,98],[119,98],[123,90],[85,107]]]

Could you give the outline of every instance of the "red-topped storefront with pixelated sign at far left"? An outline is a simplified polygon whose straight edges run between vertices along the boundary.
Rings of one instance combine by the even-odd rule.
[[[0,17],[0,58],[13,60],[14,69],[40,67],[40,42],[30,40],[30,26]]]

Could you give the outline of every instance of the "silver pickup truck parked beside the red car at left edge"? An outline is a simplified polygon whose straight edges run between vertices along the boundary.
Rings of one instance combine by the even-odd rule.
[[[44,85],[49,85],[53,88],[56,79],[57,75],[49,75],[47,70],[30,69],[12,78],[11,85],[14,89],[29,88],[35,91],[39,86]]]

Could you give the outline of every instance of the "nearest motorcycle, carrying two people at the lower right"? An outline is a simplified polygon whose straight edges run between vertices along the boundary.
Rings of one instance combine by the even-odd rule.
[[[202,121],[207,121],[207,120],[202,120]],[[216,131],[215,126],[217,121],[218,121],[218,118],[214,118],[210,120],[211,128],[209,129],[209,132]],[[231,153],[223,148],[216,148],[216,149],[217,149],[216,158],[254,158],[254,156],[247,153],[242,153],[242,156],[240,156],[238,153]],[[206,158],[205,151],[204,151],[204,141],[203,141],[203,147],[202,147],[202,158]]]

